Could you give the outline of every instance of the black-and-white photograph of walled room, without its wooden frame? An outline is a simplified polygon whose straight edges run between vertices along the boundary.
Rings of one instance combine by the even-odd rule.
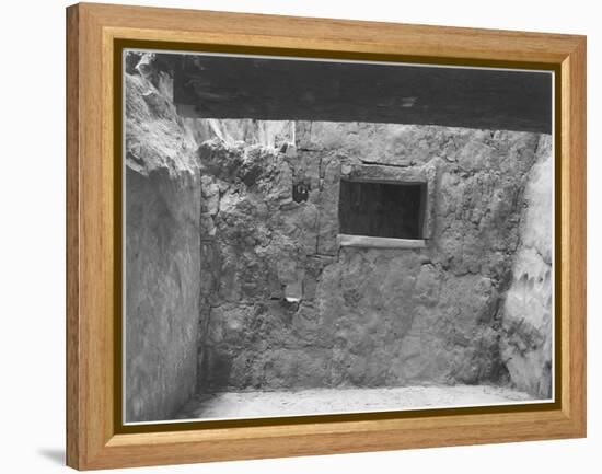
[[[554,401],[554,72],[123,71],[126,424]]]

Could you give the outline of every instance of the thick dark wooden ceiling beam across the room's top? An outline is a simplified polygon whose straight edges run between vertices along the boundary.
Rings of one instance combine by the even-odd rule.
[[[546,72],[170,56],[184,116],[552,130]]]

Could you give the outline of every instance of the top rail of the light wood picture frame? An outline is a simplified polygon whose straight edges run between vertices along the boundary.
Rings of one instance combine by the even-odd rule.
[[[172,41],[189,42],[204,33],[211,43],[245,43],[294,49],[373,50],[449,59],[487,61],[537,61],[560,63],[572,51],[578,35],[508,30],[400,24],[324,18],[231,13],[103,3],[79,3],[82,11],[106,22],[106,26],[130,30],[130,35],[157,39],[167,34]],[[136,19],[136,23],[131,21]],[[111,23],[111,25],[108,24]],[[403,30],[403,33],[401,31]],[[439,37],[437,37],[439,36]],[[444,37],[443,37],[444,36]],[[403,37],[403,39],[400,39]],[[476,39],[478,37],[478,39]],[[224,39],[225,38],[225,39]],[[437,51],[435,54],[435,51]]]

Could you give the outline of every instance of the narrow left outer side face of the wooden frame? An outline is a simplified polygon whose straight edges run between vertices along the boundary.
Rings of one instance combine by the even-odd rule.
[[[67,465],[79,469],[80,334],[79,334],[79,8],[67,9]]]

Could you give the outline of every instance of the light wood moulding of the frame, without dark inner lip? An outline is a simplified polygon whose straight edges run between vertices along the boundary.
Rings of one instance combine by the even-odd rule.
[[[234,33],[223,33],[223,24]],[[247,24],[250,22],[250,24]],[[67,464],[76,469],[455,446],[586,435],[586,41],[579,36],[500,33],[269,15],[79,4],[67,11]],[[290,26],[290,34],[282,33]],[[220,30],[221,28],[221,30]],[[269,36],[262,32],[269,31]],[[118,32],[118,33],[115,33]],[[356,39],[355,33],[360,36]],[[549,412],[453,418],[337,423],[215,431],[115,435],[109,374],[113,310],[113,171],[107,143],[111,84],[103,65],[116,37],[309,44],[324,50],[422,54],[562,65],[563,406]],[[106,36],[106,37],[105,37]],[[487,42],[481,42],[481,36]],[[107,39],[108,38],[108,39]],[[198,39],[201,38],[201,39]],[[311,38],[309,41],[308,38]],[[425,39],[426,38],[426,39]],[[104,39],[104,43],[103,43]],[[407,39],[407,41],[406,41]],[[324,46],[321,42],[324,42]],[[405,42],[405,43],[404,43]],[[491,50],[488,50],[488,47]],[[285,47],[285,46],[282,46]],[[103,62],[103,63],[101,63]],[[106,65],[105,65],[106,66]],[[104,78],[104,79],[103,79]],[[104,116],[103,116],[104,115]],[[80,120],[80,117],[84,119]],[[103,135],[104,134],[104,135]],[[568,216],[567,216],[568,215]],[[566,280],[566,281],[565,281]]]

